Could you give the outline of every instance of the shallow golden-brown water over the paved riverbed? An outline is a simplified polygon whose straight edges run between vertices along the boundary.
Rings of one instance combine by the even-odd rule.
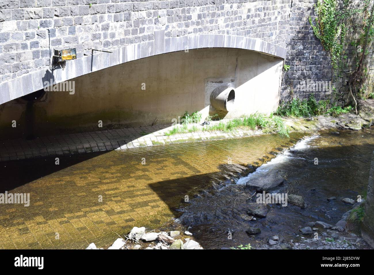
[[[90,153],[60,157],[59,165],[55,158],[3,162],[0,192],[30,193],[31,202],[0,205],[0,248],[105,247],[133,226],[158,228],[180,216],[186,195],[220,190],[299,137]]]

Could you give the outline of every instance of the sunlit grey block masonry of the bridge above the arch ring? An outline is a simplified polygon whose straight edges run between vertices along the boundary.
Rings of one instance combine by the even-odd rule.
[[[91,5],[89,5],[91,3]],[[91,49],[166,37],[231,34],[286,45],[288,0],[0,0],[0,79],[47,67],[51,49]],[[49,41],[50,40],[50,41]]]

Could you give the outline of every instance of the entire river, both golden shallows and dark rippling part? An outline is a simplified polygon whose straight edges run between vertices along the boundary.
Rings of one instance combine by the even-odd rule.
[[[0,248],[105,248],[133,226],[190,226],[205,248],[294,238],[308,221],[338,221],[349,209],[341,198],[365,195],[373,150],[367,130],[169,144],[61,157],[59,165],[2,162],[0,193],[29,193],[30,206],[0,205]],[[244,183],[267,169],[286,178],[276,191],[303,196],[307,207],[272,205],[265,219],[244,221],[253,193]],[[248,226],[261,234],[249,237]]]

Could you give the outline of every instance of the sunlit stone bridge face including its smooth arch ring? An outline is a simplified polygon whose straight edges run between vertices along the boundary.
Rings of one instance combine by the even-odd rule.
[[[50,79],[55,84],[174,51],[239,48],[285,58],[290,5],[284,0],[3,0],[0,9],[2,104],[43,89]],[[51,70],[53,50],[63,48],[76,48],[77,59],[64,70]]]

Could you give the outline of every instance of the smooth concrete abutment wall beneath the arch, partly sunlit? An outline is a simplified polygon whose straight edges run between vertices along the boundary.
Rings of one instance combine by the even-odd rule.
[[[233,111],[237,117],[256,111],[270,113],[279,102],[283,59],[243,49],[195,49],[155,55],[72,79],[74,94],[49,91],[28,105],[13,100],[1,105],[1,136],[17,137],[33,131],[40,135],[98,130],[119,126],[172,123],[172,119],[200,111],[203,119],[215,114],[210,94],[215,85],[235,88]],[[30,116],[29,116],[30,117]],[[12,128],[9,121],[18,121]]]

